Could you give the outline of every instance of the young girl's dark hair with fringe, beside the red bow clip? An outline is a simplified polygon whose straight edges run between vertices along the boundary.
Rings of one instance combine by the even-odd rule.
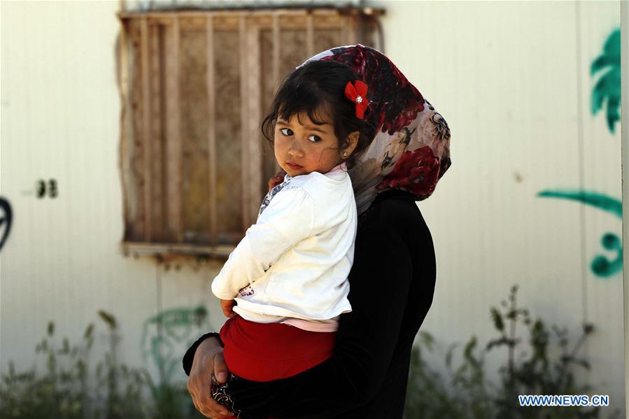
[[[350,66],[334,61],[313,61],[293,71],[275,94],[269,113],[262,121],[262,135],[272,143],[277,118],[288,121],[301,112],[317,125],[332,123],[339,149],[348,145],[349,134],[358,131],[356,148],[346,159],[351,168],[376,135],[376,127],[367,122],[369,109],[365,111],[365,119],[359,119],[356,104],[345,96],[347,82],[355,80],[359,80],[358,75]],[[323,119],[325,115],[332,121]]]

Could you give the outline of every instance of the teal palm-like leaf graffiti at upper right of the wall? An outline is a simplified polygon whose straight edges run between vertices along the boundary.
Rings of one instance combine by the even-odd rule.
[[[607,100],[607,127],[614,134],[616,122],[620,120],[621,107],[621,30],[616,29],[607,37],[603,53],[593,62],[591,76],[607,69],[592,91],[592,114],[596,115]]]

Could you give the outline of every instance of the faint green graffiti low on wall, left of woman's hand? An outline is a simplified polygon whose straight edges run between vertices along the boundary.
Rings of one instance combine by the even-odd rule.
[[[181,368],[181,356],[185,350],[180,348],[182,344],[190,345],[208,320],[207,309],[198,306],[162,311],[144,322],[143,353],[160,371],[162,383],[169,383],[176,369]]]

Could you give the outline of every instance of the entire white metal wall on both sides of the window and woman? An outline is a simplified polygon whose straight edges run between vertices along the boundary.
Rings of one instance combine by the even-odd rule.
[[[520,285],[544,320],[595,324],[586,348],[593,392],[623,407],[621,272],[597,276],[602,236],[621,220],[579,201],[621,199],[620,123],[590,111],[591,63],[620,26],[617,1],[381,1],[386,54],[444,115],[451,169],[420,208],[437,251],[437,290],[424,329],[446,346],[492,334],[489,306]],[[205,305],[220,268],[158,271],[124,257],[115,80],[118,2],[2,2],[1,191],[13,229],[0,250],[0,371],[28,367],[55,320],[78,339],[96,311],[122,327],[121,359],[149,365],[141,335],[160,311]],[[38,179],[59,196],[35,197]],[[161,275],[160,275],[161,274]],[[75,340],[76,340],[75,339]],[[500,360],[490,360],[495,366]],[[178,378],[183,378],[183,374]]]

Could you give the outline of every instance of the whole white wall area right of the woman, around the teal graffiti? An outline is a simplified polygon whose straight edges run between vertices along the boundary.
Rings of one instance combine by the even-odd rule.
[[[590,267],[597,255],[619,257],[601,239],[621,236],[621,218],[537,197],[584,190],[621,201],[620,122],[612,134],[605,109],[590,108],[601,76],[590,67],[620,27],[619,2],[378,4],[388,10],[387,55],[452,132],[453,164],[419,204],[438,276],[423,329],[444,347],[472,334],[486,342],[495,337],[489,307],[517,283],[518,301],[567,326],[573,341],[581,322],[593,322],[584,350],[592,370],[581,377],[610,395],[608,413],[624,409],[622,272]]]

